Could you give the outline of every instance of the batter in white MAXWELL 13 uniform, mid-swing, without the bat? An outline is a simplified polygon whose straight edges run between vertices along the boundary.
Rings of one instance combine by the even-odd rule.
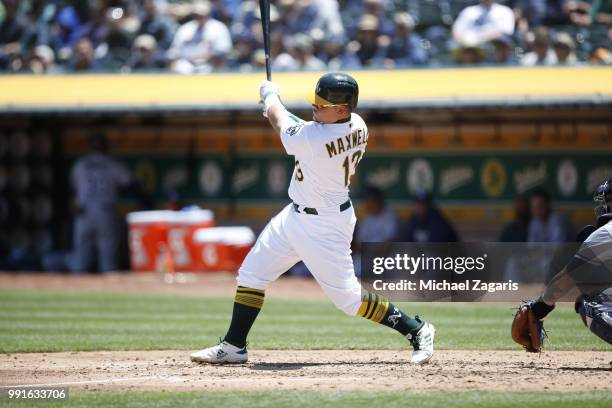
[[[397,330],[412,344],[411,362],[427,362],[433,355],[433,325],[365,292],[355,277],[350,247],[356,217],[349,184],[369,137],[363,119],[353,112],[359,96],[357,82],[346,74],[323,75],[311,98],[313,120],[309,122],[289,113],[278,93],[276,84],[262,82],[264,116],[280,134],[287,154],[295,157],[289,186],[292,203],[272,218],[240,267],[225,338],[193,353],[191,360],[246,362],[247,335],[263,306],[265,289],[302,260],[336,307]]]

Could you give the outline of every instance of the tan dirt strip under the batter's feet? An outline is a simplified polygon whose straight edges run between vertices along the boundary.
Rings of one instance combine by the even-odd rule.
[[[440,351],[424,366],[390,350],[252,351],[198,365],[187,351],[0,355],[0,383],[87,390],[612,390],[612,352]]]

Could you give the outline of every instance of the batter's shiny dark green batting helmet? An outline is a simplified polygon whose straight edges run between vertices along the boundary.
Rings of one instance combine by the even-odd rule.
[[[350,75],[339,72],[325,74],[319,78],[314,95],[308,99],[314,105],[349,105],[354,109],[359,99],[359,86]]]

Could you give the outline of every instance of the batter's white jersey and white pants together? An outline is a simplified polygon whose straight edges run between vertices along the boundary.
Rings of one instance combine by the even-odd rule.
[[[348,200],[350,177],[363,157],[368,129],[359,115],[337,124],[296,121],[281,129],[295,170],[287,205],[268,223],[238,271],[238,285],[266,289],[300,260],[337,308],[356,315],[361,285],[355,276],[351,241],[355,211]],[[300,211],[310,207],[317,214]]]

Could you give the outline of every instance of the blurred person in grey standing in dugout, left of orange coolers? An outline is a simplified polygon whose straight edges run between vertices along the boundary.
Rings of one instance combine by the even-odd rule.
[[[70,174],[76,214],[68,268],[73,273],[90,271],[97,258],[98,272],[106,273],[118,267],[117,198],[121,189],[136,188],[136,183],[127,168],[109,155],[104,134],[92,134],[89,147],[90,153],[77,160]]]

